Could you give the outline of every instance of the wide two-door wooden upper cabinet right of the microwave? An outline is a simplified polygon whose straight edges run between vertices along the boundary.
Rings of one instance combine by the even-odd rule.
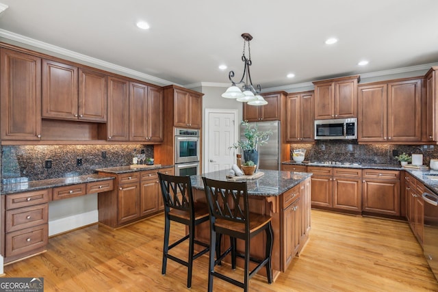
[[[359,142],[421,142],[422,79],[359,85]]]

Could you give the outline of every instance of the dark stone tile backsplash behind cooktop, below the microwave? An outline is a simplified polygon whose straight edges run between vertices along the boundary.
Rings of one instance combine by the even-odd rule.
[[[339,161],[350,163],[398,164],[393,150],[401,154],[423,155],[423,164],[429,165],[431,158],[438,158],[438,147],[433,145],[391,145],[391,144],[357,144],[352,141],[318,141],[315,144],[291,144],[290,151],[305,148],[305,160]]]

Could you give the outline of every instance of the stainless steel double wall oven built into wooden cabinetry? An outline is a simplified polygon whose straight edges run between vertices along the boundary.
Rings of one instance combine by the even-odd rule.
[[[175,128],[175,175],[199,174],[199,130]]]

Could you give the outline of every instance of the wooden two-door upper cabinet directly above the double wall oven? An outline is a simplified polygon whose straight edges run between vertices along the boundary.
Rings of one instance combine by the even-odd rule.
[[[182,128],[201,129],[203,119],[203,94],[176,85],[164,88],[166,116],[173,116],[173,125]]]

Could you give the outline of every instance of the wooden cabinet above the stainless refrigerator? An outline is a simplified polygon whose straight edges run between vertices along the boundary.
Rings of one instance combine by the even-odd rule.
[[[270,92],[261,94],[267,105],[248,105],[244,103],[243,120],[248,122],[261,122],[270,120],[281,120],[282,108],[281,105],[285,100],[286,92]]]

